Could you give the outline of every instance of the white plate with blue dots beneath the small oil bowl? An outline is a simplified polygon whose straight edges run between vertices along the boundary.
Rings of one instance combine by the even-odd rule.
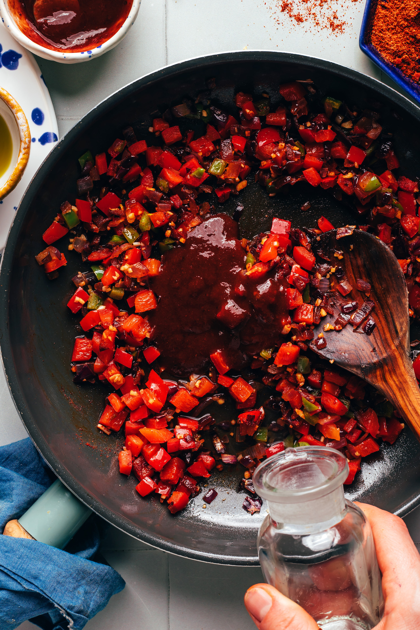
[[[33,55],[10,35],[0,21],[0,86],[25,112],[31,130],[31,152],[25,173],[12,192],[0,201],[0,252],[31,179],[58,141],[59,130],[47,86]]]

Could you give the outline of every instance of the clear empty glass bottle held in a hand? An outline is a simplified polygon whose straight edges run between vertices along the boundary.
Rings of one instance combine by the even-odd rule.
[[[273,455],[253,482],[268,515],[258,532],[265,580],[300,604],[322,629],[370,630],[383,596],[370,524],[344,498],[346,457],[327,447]]]

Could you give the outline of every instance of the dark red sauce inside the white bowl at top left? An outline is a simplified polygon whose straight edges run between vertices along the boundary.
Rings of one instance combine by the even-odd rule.
[[[9,0],[20,31],[50,50],[86,52],[121,28],[133,0]]]

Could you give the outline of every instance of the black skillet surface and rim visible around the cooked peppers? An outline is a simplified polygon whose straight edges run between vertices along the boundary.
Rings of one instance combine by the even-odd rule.
[[[76,386],[69,370],[74,336],[81,329],[65,304],[74,291],[72,275],[88,267],[79,255],[66,251],[67,239],[57,243],[68,260],[59,280],[47,280],[34,259],[42,249],[42,233],[60,204],[76,197],[77,158],[87,149],[93,154],[103,151],[121,137],[128,124],[140,134],[141,123],[147,128],[156,116],[152,112],[178,105],[184,96],[195,97],[212,78],[216,86],[212,100],[232,114],[236,113],[236,91],[267,92],[276,103],[280,83],[308,78],[324,95],[361,108],[380,107],[381,124],[395,134],[401,172],[412,178],[419,173],[419,108],[359,72],[276,52],[225,53],[166,67],[91,110],[60,140],[31,182],[1,263],[0,344],[9,386],[31,438],[54,473],[84,503],[116,527],[160,549],[214,563],[252,565],[258,564],[256,534],[266,505],[253,516],[242,510],[246,493],[239,490],[241,466],[213,473],[208,487],[216,488],[219,496],[212,505],[203,510],[202,491],[176,516],[159,503],[157,495],[140,498],[134,490],[135,478],[120,475],[115,455],[123,438],[108,437],[95,428],[108,389]],[[187,128],[193,122],[188,121]],[[289,195],[270,198],[252,180],[239,197],[231,197],[222,206],[232,215],[238,200],[243,203],[241,236],[270,229],[273,216],[291,219],[293,226],[315,226],[321,214],[335,226],[363,222],[327,192],[309,185],[297,185]],[[302,212],[300,207],[307,201],[310,210]],[[267,392],[259,396],[261,402],[268,397]],[[214,403],[209,411],[220,420],[234,417],[229,402],[225,406]],[[420,503],[419,455],[420,445],[406,429],[394,445],[382,444],[378,454],[363,461],[348,498],[406,515]]]

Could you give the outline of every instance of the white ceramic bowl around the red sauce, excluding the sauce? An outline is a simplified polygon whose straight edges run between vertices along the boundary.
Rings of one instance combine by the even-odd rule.
[[[133,0],[132,8],[130,9],[130,13],[128,13],[127,20],[125,20],[120,29],[116,31],[115,35],[113,35],[109,40],[106,40],[106,42],[103,42],[101,46],[87,52],[69,52],[69,50],[60,52],[59,50],[50,50],[47,47],[33,42],[29,37],[26,37],[26,35],[22,33],[16,24],[16,21],[14,21],[13,14],[9,11],[8,0],[0,0],[0,17],[3,20],[4,26],[7,26],[9,33],[13,35],[14,39],[17,40],[23,47],[33,52],[34,55],[43,57],[43,59],[58,61],[60,64],[79,64],[82,61],[88,61],[89,59],[94,59],[94,57],[103,55],[104,52],[113,49],[117,43],[121,42],[133,25],[135,18],[137,18],[140,1],[141,0]],[[116,2],[118,2],[118,0],[116,0]]]

